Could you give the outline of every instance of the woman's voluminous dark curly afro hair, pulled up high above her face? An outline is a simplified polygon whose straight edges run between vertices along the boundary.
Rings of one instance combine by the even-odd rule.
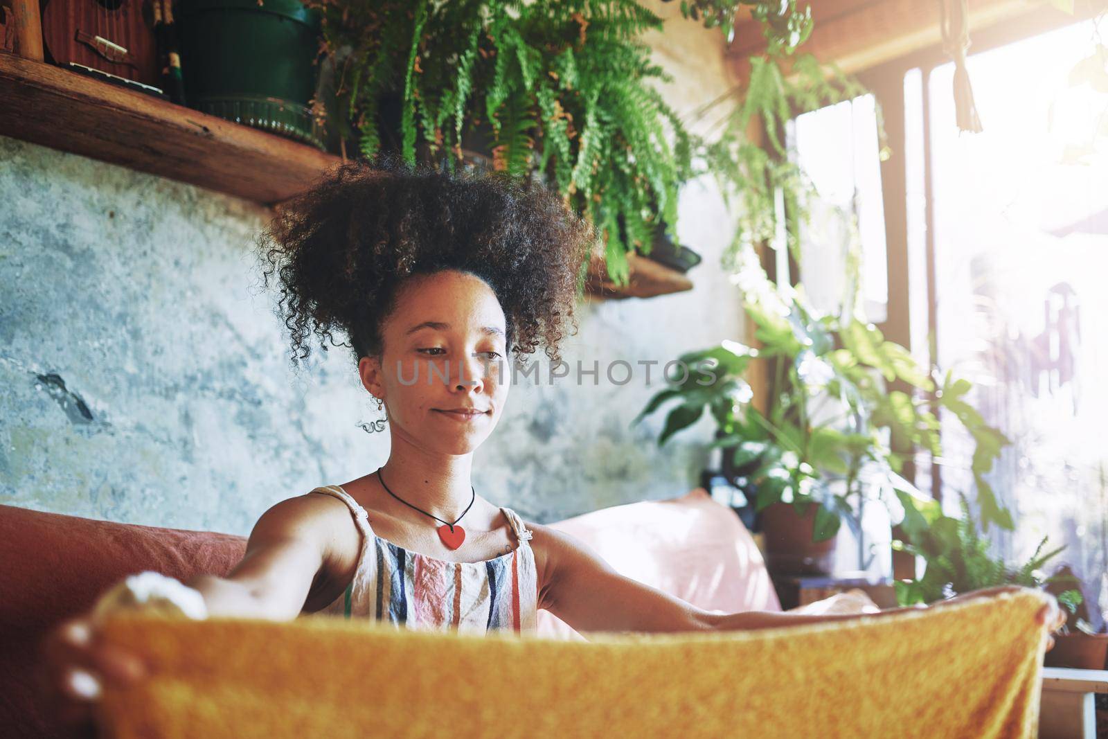
[[[410,276],[458,269],[492,288],[517,361],[540,345],[558,361],[567,324],[576,332],[593,227],[553,192],[499,174],[408,166],[394,156],[332,168],[286,201],[257,238],[266,287],[293,340],[294,367],[315,333],[353,350],[383,350],[381,324]],[[341,331],[349,342],[336,343]],[[572,333],[571,333],[572,335]]]

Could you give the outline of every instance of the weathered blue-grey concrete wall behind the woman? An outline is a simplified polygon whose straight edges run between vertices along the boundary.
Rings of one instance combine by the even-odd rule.
[[[676,3],[673,3],[676,4]],[[659,12],[674,9],[658,3]],[[680,19],[655,37],[691,111],[725,91],[722,39]],[[345,350],[300,376],[254,263],[267,213],[191,185],[0,137],[0,503],[182,528],[249,532],[273,503],[371,472],[388,434]],[[720,271],[729,227],[715,191],[688,187],[678,234],[704,255],[690,292],[581,306],[564,352],[602,368],[665,363],[741,339]],[[711,424],[664,450],[660,388],[516,386],[476,452],[478,491],[551,522],[697,483]]]

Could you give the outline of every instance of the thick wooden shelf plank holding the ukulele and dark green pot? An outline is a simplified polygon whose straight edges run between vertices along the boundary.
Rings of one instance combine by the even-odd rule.
[[[76,72],[0,52],[0,135],[273,205],[341,158]]]

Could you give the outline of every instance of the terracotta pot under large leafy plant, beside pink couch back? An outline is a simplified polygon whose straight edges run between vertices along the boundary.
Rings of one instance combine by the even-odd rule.
[[[798,515],[791,503],[773,503],[761,512],[766,566],[774,575],[830,575],[834,569],[835,537],[813,542],[814,503]]]

